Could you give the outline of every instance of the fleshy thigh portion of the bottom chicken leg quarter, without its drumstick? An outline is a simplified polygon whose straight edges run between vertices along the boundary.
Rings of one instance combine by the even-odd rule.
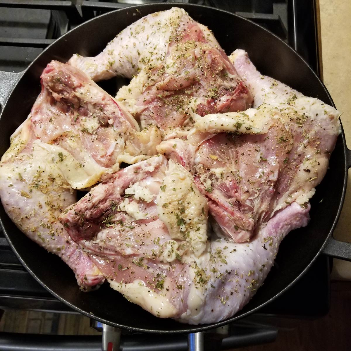
[[[160,155],[124,168],[67,208],[61,223],[128,300],[159,317],[192,310],[203,286],[194,290],[193,281],[205,274],[198,261],[207,202],[178,163]]]

